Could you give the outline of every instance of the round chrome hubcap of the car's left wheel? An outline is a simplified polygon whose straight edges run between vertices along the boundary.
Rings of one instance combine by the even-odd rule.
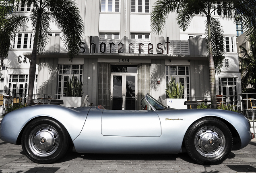
[[[40,157],[52,155],[59,146],[59,135],[54,127],[41,125],[31,131],[29,136],[29,148]]]

